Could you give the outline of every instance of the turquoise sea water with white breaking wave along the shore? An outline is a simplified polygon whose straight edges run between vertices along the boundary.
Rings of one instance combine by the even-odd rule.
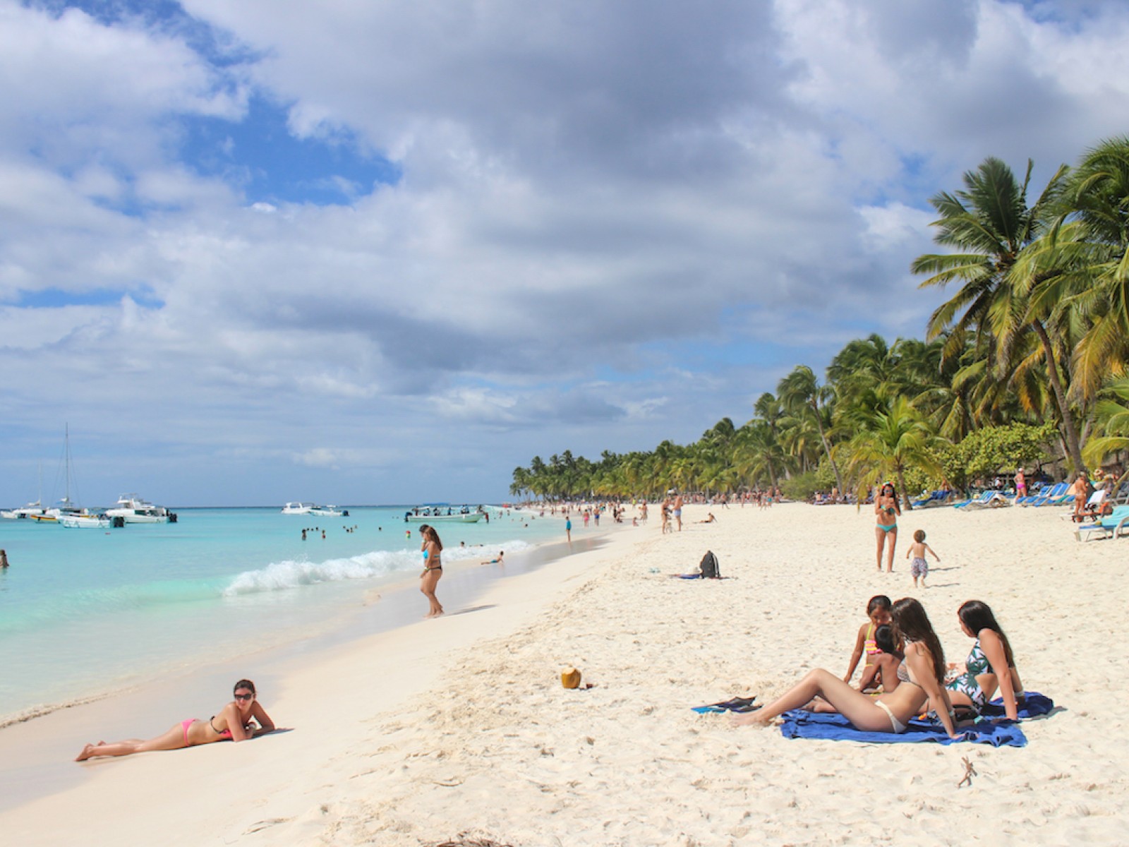
[[[403,522],[404,508],[349,513],[180,509],[175,524],[116,530],[0,521],[0,549],[11,562],[0,571],[0,725],[217,656],[331,631],[369,609],[378,588],[414,582],[418,525]],[[561,533],[558,521],[491,517],[437,523],[445,562],[478,562],[499,549],[509,559]],[[315,526],[303,541],[301,530]]]

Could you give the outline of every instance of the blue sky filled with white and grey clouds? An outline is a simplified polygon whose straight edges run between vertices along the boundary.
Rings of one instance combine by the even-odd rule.
[[[1122,0],[0,0],[0,505],[501,501],[924,338]],[[42,481],[41,481],[42,480]]]

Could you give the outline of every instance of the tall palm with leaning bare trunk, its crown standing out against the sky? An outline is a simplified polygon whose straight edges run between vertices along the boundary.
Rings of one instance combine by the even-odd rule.
[[[992,337],[997,358],[1005,356],[1019,331],[1031,330],[1038,335],[1067,452],[1075,468],[1085,470],[1078,430],[1059,375],[1054,346],[1040,314],[1030,307],[1029,287],[1010,274],[1022,251],[1050,229],[1054,203],[1067,174],[1067,167],[1062,165],[1039,200],[1029,208],[1027,185],[1033,166],[1029,160],[1021,185],[1012,168],[999,159],[987,158],[975,171],[964,174],[963,191],[954,194],[940,192],[931,197],[930,204],[940,213],[933,222],[939,230],[935,241],[963,252],[918,256],[910,270],[933,274],[921,282],[922,288],[954,281],[963,283],[956,295],[942,304],[929,318],[930,339],[946,329],[953,329],[945,346],[946,356],[962,351],[968,334]]]

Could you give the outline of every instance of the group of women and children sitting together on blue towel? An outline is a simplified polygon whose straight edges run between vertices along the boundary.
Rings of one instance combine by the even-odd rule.
[[[1018,718],[1023,684],[1012,646],[987,603],[970,600],[957,610],[961,629],[975,639],[963,669],[946,667],[929,617],[912,597],[896,603],[884,595],[872,597],[867,617],[846,676],[811,671],[784,696],[734,723],[764,726],[789,709],[805,708],[838,711],[865,732],[902,733],[911,718],[928,710],[949,737],[957,737],[955,709],[977,713],[997,690],[1007,717]],[[864,655],[863,678],[852,688],[850,680]]]

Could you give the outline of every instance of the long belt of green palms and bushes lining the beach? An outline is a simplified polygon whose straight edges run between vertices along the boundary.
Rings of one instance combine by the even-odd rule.
[[[723,418],[693,444],[598,462],[569,451],[514,470],[511,494],[549,499],[789,496],[965,489],[1044,464],[1058,475],[1129,453],[1129,136],[1062,165],[1033,200],[997,158],[929,198],[943,252],[918,256],[921,287],[947,299],[925,338],[848,342],[821,381],[798,365],[752,418]]]

